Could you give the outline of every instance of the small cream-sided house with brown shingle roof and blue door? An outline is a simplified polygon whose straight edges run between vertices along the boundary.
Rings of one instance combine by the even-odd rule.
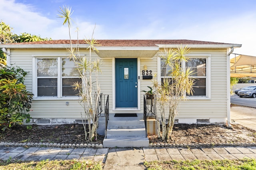
[[[76,41],[72,41],[76,44]],[[72,72],[74,64],[67,57],[69,40],[1,44],[7,51],[8,65],[20,66],[28,72],[27,90],[34,100],[32,123],[74,123],[81,119],[78,96],[72,89],[79,80]],[[178,123],[226,123],[230,121],[230,53],[240,44],[192,40],[98,40],[102,61],[99,75],[102,94],[109,96],[109,114],[143,113],[144,92],[152,86],[151,75],[161,81],[164,71],[161,56],[164,48],[187,45],[189,66],[196,74],[193,96],[178,107]],[[88,45],[79,41],[80,54],[88,55]],[[182,63],[185,68],[186,63]],[[156,109],[156,112],[158,109]]]

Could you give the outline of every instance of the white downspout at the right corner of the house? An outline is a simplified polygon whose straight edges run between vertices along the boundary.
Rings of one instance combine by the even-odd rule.
[[[231,47],[227,54],[227,123],[226,126],[232,128],[230,123],[230,54],[233,53],[234,47]]]

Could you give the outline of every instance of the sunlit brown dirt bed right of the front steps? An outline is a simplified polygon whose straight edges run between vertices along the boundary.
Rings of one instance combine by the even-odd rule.
[[[196,144],[196,143],[255,143],[256,131],[232,125],[229,129],[224,125],[174,125],[172,132],[172,144]],[[148,135],[151,143],[162,142],[156,135]]]

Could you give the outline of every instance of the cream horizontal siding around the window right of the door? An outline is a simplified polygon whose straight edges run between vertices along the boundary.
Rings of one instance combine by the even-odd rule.
[[[178,106],[176,118],[210,119],[227,117],[226,50],[192,49],[190,54],[211,56],[211,98],[210,100],[188,100],[181,102]]]

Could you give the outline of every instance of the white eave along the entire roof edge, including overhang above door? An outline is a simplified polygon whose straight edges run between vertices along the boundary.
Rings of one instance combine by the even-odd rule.
[[[227,48],[239,48],[240,44],[188,44],[186,45],[191,49],[227,49]],[[70,44],[0,44],[0,48],[10,49],[62,49],[70,48]],[[76,44],[73,44],[76,47]],[[89,45],[79,44],[80,49],[87,49]],[[153,46],[97,46],[99,57],[127,57],[127,58],[138,58],[138,57],[154,57],[159,49],[163,48],[177,48],[180,47],[178,44],[154,44]]]

